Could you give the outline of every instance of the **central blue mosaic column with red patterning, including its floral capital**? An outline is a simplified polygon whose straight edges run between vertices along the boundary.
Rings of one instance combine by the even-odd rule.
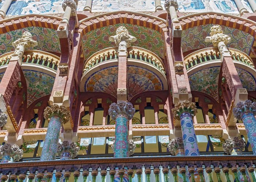
[[[114,157],[129,157],[128,122],[135,114],[132,103],[119,100],[109,106],[109,115],[116,120]]]

